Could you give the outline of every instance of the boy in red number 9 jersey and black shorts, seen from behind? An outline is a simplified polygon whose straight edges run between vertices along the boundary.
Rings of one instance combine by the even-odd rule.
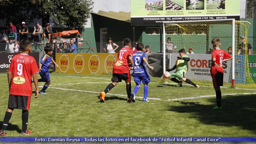
[[[5,112],[4,120],[2,122],[0,136],[6,135],[6,129],[12,117],[12,112],[14,109],[22,109],[21,134],[32,134],[32,132],[29,132],[29,130],[27,130],[29,119],[29,106],[32,95],[32,83],[30,82],[30,80],[31,77],[35,79],[34,84],[36,87],[36,91],[34,98],[38,98],[39,94],[36,73],[38,73],[39,71],[36,60],[32,56],[29,56],[29,53],[32,51],[31,43],[31,40],[23,39],[20,42],[20,48],[22,50],[22,53],[14,55],[12,57],[12,62],[7,73],[9,84],[9,102],[8,108]]]

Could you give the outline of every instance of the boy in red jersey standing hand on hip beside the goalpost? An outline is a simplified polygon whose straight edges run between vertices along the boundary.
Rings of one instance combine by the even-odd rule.
[[[211,62],[211,77],[213,79],[213,87],[216,93],[217,106],[213,109],[221,109],[221,91],[220,86],[223,85],[223,75],[224,70],[222,63],[228,60],[233,59],[226,51],[220,49],[220,39],[212,39],[213,53],[212,53],[212,62]]]

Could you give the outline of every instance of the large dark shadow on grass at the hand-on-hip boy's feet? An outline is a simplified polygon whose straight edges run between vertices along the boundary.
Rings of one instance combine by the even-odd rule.
[[[196,100],[195,100],[196,101]],[[222,97],[222,109],[216,106],[216,98],[209,99],[214,105],[199,102],[175,101],[182,106],[170,106],[170,111],[189,113],[188,117],[216,126],[239,126],[246,130],[256,130],[256,95],[230,95]]]

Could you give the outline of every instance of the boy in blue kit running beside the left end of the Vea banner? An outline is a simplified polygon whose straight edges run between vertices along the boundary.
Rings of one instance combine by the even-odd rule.
[[[46,94],[45,90],[51,83],[48,69],[51,67],[52,62],[56,68],[59,67],[59,65],[57,65],[56,62],[51,58],[51,55],[53,54],[53,48],[51,46],[46,46],[44,47],[44,51],[46,54],[42,56],[41,62],[39,64],[39,74],[41,79],[38,79],[38,82],[45,82],[45,84],[43,89],[39,92],[40,94]]]

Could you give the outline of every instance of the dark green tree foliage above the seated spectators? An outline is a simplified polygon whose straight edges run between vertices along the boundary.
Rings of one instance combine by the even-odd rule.
[[[1,19],[12,21],[14,25],[23,21],[34,23],[42,18],[43,23],[49,17],[64,28],[83,28],[92,12],[92,0],[0,0]]]

